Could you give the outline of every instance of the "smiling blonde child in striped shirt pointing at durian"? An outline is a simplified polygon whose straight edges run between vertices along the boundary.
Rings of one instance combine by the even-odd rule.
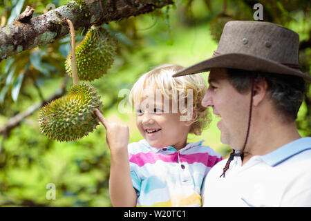
[[[113,206],[201,206],[202,182],[223,159],[202,142],[187,143],[209,123],[201,105],[207,90],[200,75],[171,77],[182,66],[165,64],[134,84],[130,101],[144,140],[128,145],[129,128],[104,120],[111,150]]]

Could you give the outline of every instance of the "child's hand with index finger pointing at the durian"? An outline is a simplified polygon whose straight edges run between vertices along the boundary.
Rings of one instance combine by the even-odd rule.
[[[109,122],[97,108],[94,113],[106,128],[106,141],[110,151],[113,153],[127,149],[129,144],[129,126],[122,123]]]

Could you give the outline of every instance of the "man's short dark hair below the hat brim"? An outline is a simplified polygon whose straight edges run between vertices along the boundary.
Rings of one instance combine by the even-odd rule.
[[[247,93],[252,86],[252,77],[267,81],[267,94],[271,96],[277,111],[280,111],[288,122],[294,121],[303,102],[305,81],[294,75],[253,72],[227,68],[229,82],[239,93]]]

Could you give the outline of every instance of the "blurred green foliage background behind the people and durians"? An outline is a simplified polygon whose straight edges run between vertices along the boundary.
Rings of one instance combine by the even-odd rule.
[[[35,8],[35,16],[68,1],[0,0],[1,26],[12,23],[26,6]],[[135,115],[120,113],[124,99],[120,90],[131,86],[152,68],[173,63],[189,66],[211,57],[226,21],[253,20],[252,8],[262,3],[265,21],[272,21],[299,33],[300,61],[305,73],[311,66],[310,1],[207,1],[176,0],[174,6],[102,25],[118,40],[117,57],[109,72],[91,84],[104,103],[104,116],[121,119],[130,127],[130,142],[142,139],[135,126]],[[86,30],[76,32],[77,42]],[[8,128],[12,117],[26,113],[59,91],[72,80],[66,78],[64,61],[70,50],[69,37],[34,48],[0,62],[0,206],[111,206],[109,199],[110,154],[103,126],[75,142],[48,140],[39,133],[39,109],[21,124]],[[206,73],[200,74],[207,79]],[[311,135],[311,90],[296,121],[299,133]],[[28,109],[29,110],[29,109]],[[230,151],[221,144],[220,131],[213,119],[202,135],[189,135],[188,142],[204,139],[224,157]],[[56,188],[55,200],[49,200],[47,184]]]

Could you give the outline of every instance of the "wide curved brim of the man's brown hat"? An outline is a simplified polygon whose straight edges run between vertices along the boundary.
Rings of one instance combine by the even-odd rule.
[[[254,55],[247,55],[242,53],[228,53],[225,55],[217,55],[198,64],[194,64],[188,68],[178,71],[173,77],[183,75],[192,75],[211,70],[211,68],[235,68],[241,70],[261,71],[268,73],[278,73],[284,75],[296,75],[311,81],[311,76],[306,75],[299,69],[289,68],[276,61],[257,57]]]

